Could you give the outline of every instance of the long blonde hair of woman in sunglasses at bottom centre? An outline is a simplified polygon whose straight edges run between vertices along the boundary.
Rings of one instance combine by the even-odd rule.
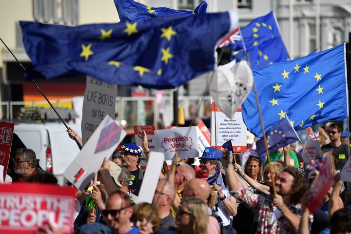
[[[182,198],[181,204],[184,203],[188,204],[189,212],[193,219],[193,234],[208,234],[209,213],[206,203],[195,196]]]

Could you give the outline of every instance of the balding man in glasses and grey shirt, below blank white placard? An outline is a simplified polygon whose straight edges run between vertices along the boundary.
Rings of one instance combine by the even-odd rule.
[[[176,227],[176,218],[172,215],[171,207],[176,197],[176,188],[165,179],[158,181],[153,206],[158,211],[160,218],[160,227],[158,230],[167,230],[170,227]]]

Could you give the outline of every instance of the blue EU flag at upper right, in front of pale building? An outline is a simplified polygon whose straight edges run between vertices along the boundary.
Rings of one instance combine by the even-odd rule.
[[[238,41],[230,47],[234,51],[246,48],[252,69],[290,59],[273,11],[252,20],[241,29],[241,35],[244,45]]]

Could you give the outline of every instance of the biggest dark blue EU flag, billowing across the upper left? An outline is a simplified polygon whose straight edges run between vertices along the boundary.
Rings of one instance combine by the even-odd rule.
[[[214,70],[216,41],[237,22],[233,10],[76,27],[21,21],[33,65],[26,75],[51,79],[82,73],[125,86],[177,87]]]

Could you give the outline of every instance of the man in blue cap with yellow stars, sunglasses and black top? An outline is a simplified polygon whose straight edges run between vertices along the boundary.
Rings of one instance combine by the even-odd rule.
[[[144,170],[138,167],[142,153],[141,147],[133,143],[122,145],[121,151],[119,152],[122,166],[126,167],[132,175],[128,190],[134,195],[139,194],[142,178],[145,173]]]

